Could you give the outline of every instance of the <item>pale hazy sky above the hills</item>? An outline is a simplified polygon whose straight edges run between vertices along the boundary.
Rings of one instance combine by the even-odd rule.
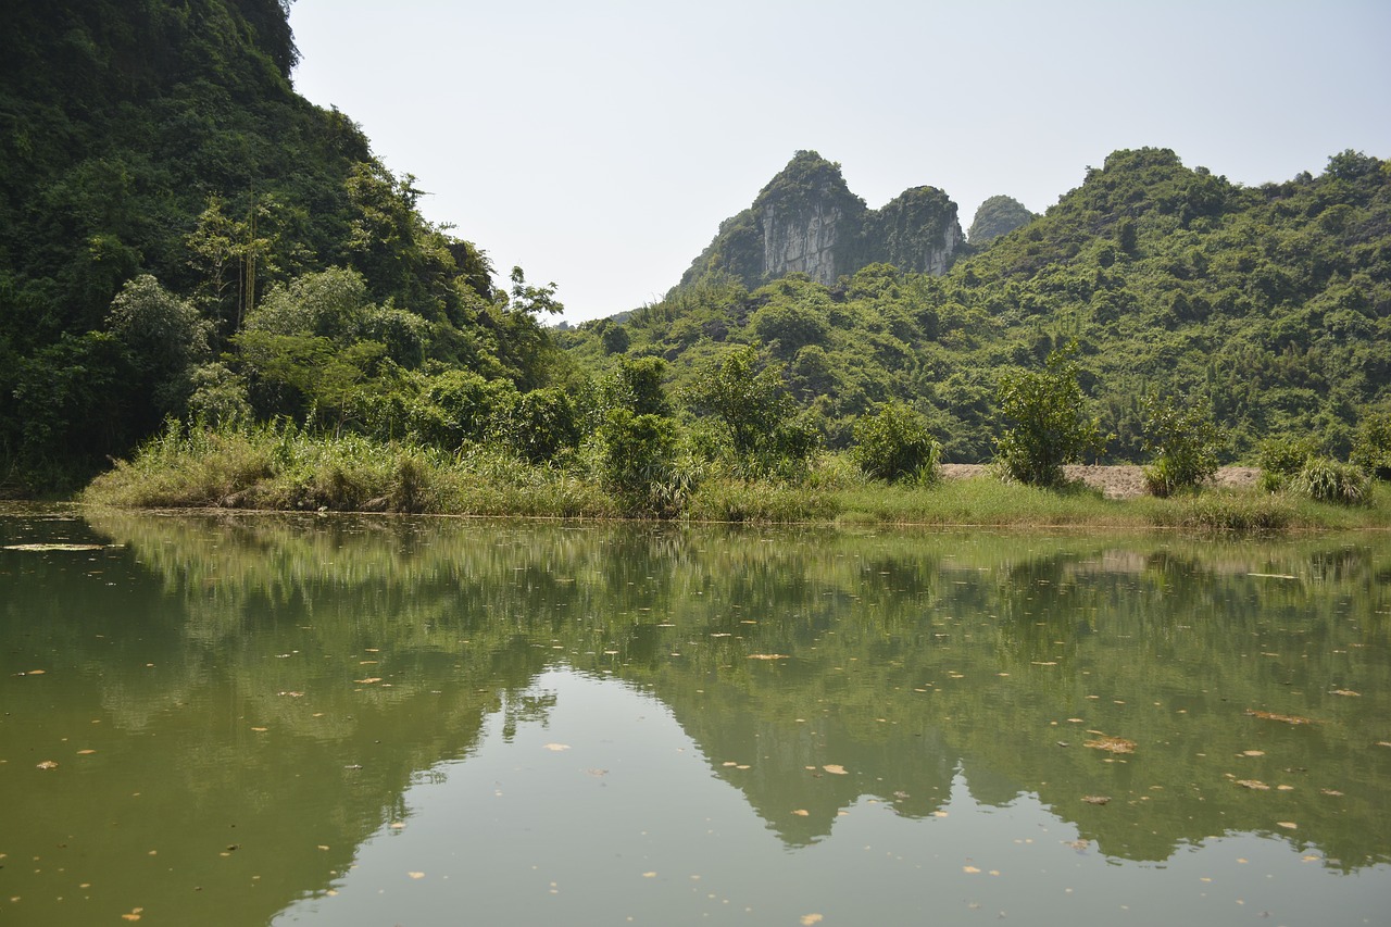
[[[563,319],[655,302],[801,149],[879,207],[1043,212],[1117,149],[1391,159],[1385,0],[295,0],[300,95]]]

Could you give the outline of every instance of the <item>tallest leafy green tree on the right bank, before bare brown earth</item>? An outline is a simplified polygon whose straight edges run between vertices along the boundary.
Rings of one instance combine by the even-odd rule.
[[[1060,486],[1063,465],[1095,454],[1104,444],[1100,425],[1086,415],[1071,342],[1047,356],[1042,370],[1000,376],[996,404],[1004,430],[996,455],[1006,472],[1029,486]]]

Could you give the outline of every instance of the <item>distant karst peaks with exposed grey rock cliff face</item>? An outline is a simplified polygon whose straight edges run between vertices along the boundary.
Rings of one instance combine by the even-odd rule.
[[[961,241],[957,206],[938,188],[915,187],[871,210],[839,164],[797,152],[753,206],[721,224],[680,285],[732,276],[753,288],[793,273],[830,285],[874,263],[942,274]]]

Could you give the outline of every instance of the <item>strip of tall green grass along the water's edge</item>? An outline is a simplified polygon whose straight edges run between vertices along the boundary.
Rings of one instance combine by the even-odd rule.
[[[171,427],[97,477],[82,501],[125,508],[378,511],[438,515],[623,518],[633,502],[606,491],[594,461],[577,452],[547,465],[476,447],[444,454],[357,436],[330,438],[294,426],[241,430]],[[1104,498],[1002,483],[993,476],[928,486],[868,480],[844,457],[822,455],[800,483],[741,480],[707,466],[669,511],[719,522],[842,525],[985,525],[1175,528],[1280,533],[1391,526],[1391,486],[1365,505],[1334,505],[1294,493],[1206,490],[1175,498]]]

